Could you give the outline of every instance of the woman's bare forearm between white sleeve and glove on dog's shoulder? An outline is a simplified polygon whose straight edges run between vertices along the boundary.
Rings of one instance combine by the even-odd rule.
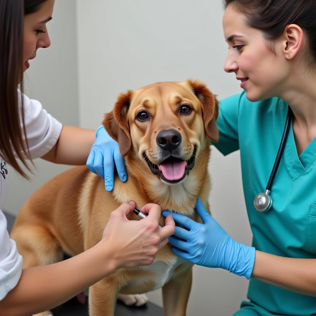
[[[95,130],[66,125],[56,145],[42,158],[65,165],[85,165],[94,141]]]

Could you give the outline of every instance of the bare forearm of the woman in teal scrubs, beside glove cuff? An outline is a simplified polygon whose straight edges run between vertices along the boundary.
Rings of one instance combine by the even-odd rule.
[[[251,277],[304,295],[316,296],[316,259],[286,258],[256,251]]]

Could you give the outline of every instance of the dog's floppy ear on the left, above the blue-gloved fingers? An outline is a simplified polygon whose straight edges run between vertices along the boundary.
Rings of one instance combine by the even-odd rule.
[[[106,113],[102,122],[109,135],[119,143],[119,150],[123,157],[131,149],[130,126],[127,120],[127,112],[130,108],[132,90],[121,93],[114,105],[114,109]]]

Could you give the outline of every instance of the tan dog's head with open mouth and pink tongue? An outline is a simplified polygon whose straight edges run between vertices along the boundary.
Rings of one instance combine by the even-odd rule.
[[[103,125],[122,156],[145,160],[163,182],[183,181],[195,158],[218,140],[218,101],[197,80],[157,82],[119,95]]]

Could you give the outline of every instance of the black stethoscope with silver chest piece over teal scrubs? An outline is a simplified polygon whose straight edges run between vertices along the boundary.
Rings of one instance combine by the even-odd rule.
[[[285,127],[284,127],[284,131],[283,131],[280,147],[279,147],[279,150],[276,154],[276,160],[274,162],[267,187],[266,187],[264,192],[257,194],[254,201],[253,201],[253,204],[254,204],[256,210],[259,212],[266,212],[266,211],[270,210],[270,208],[272,206],[272,198],[270,197],[269,194],[271,192],[271,186],[272,186],[272,183],[273,183],[274,178],[276,176],[276,172],[277,172],[277,169],[279,167],[279,164],[280,164],[283,152],[284,152],[286,139],[289,135],[291,117],[292,117],[292,110],[289,107],[288,116],[286,117],[286,122],[285,122]]]

